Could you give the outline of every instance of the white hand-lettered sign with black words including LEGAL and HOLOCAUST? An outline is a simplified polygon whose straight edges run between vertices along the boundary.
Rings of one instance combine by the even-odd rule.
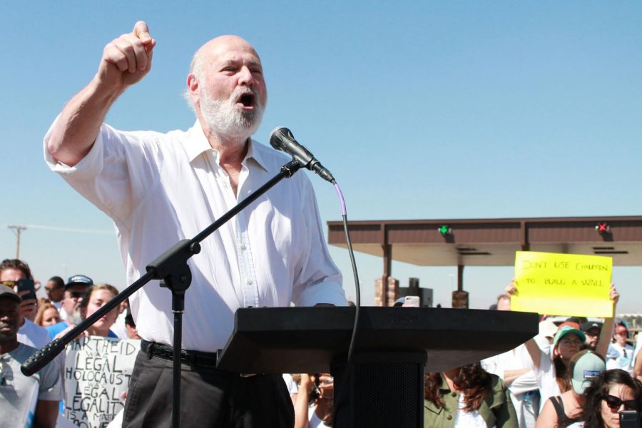
[[[69,342],[65,361],[65,417],[77,427],[104,428],[124,407],[140,340],[83,337]]]

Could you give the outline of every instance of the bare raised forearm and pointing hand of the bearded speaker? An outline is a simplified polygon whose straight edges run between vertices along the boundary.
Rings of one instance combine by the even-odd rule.
[[[64,106],[51,128],[47,150],[56,161],[73,166],[89,153],[113,102],[150,71],[154,46],[143,21],[105,46],[98,72]]]

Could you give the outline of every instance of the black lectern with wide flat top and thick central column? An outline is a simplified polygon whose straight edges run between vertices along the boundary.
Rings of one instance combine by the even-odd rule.
[[[347,367],[354,319],[354,307],[239,309],[217,367],[243,373],[330,372],[335,427],[423,427],[424,372],[511,350],[537,334],[539,321],[530,312],[361,307]]]

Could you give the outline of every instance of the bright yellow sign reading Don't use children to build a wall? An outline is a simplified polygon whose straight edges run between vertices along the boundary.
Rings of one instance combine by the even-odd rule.
[[[612,268],[610,257],[517,251],[511,310],[613,317],[608,297]]]

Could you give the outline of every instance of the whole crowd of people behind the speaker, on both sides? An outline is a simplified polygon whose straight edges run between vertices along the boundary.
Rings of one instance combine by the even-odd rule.
[[[58,415],[64,412],[60,405],[65,397],[63,357],[34,377],[24,377],[19,367],[37,348],[71,330],[118,290],[94,284],[86,275],[73,275],[66,282],[53,277],[45,286],[47,297],[32,301],[17,291],[24,278],[33,279],[27,263],[16,259],[0,263],[0,387],[11,385],[16,391],[3,394],[0,408],[11,415],[5,420],[31,418],[35,427],[63,426]],[[507,290],[515,292],[513,285]],[[612,287],[614,307],[618,298]],[[510,310],[510,295],[499,296],[493,309]],[[140,339],[126,302],[85,334]],[[560,325],[544,318],[539,335],[514,350],[426,374],[424,426],[619,427],[620,412],[642,409],[641,347],[642,340],[631,337],[626,323],[612,318],[598,322],[571,317]],[[284,374],[283,378],[295,410],[295,428],[332,425],[330,374]],[[0,422],[0,426],[10,425]]]

